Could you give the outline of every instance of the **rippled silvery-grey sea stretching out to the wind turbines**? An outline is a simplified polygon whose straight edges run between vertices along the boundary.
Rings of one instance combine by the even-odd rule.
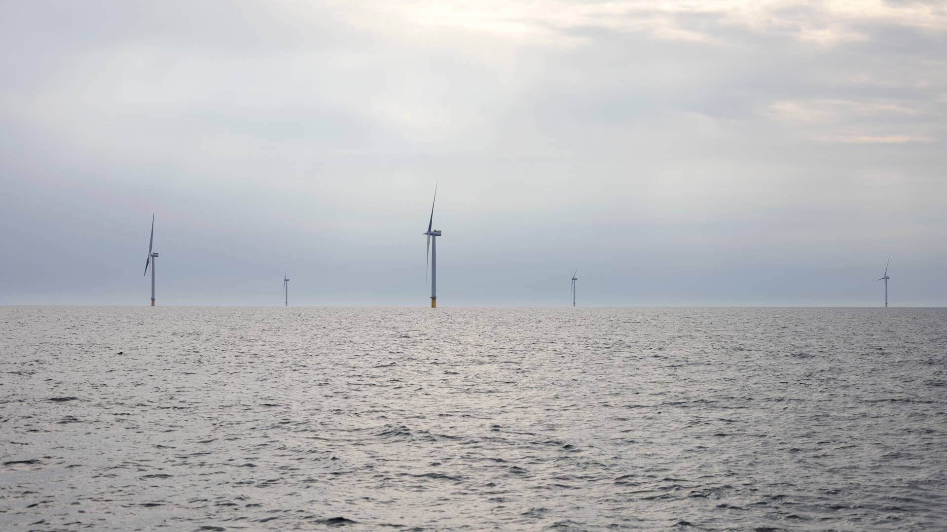
[[[0,530],[943,530],[947,310],[0,307]]]

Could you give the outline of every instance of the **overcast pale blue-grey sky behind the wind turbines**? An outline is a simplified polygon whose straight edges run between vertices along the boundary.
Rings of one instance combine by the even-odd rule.
[[[0,304],[947,305],[939,1],[0,6]]]

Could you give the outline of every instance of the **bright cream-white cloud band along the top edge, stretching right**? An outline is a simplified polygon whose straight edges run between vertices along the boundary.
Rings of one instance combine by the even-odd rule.
[[[369,3],[375,7],[377,4]],[[366,4],[357,4],[366,9]],[[652,0],[571,2],[567,0],[484,2],[391,2],[384,12],[420,27],[454,28],[517,41],[578,44],[563,30],[576,27],[650,35],[658,39],[720,43],[722,27],[791,35],[801,42],[829,45],[865,41],[858,27],[898,25],[947,29],[947,10],[937,4],[884,0],[834,0],[800,3],[787,0]],[[709,23],[709,24],[708,24]],[[703,27],[702,27],[703,26]]]

